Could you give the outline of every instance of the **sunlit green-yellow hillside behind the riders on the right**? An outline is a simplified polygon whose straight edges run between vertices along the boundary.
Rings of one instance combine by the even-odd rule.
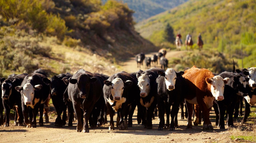
[[[141,36],[156,45],[167,42],[164,39],[167,23],[174,35],[181,33],[183,41],[190,33],[195,43],[201,33],[204,48],[214,48],[237,59],[239,68],[247,68],[256,66],[256,51],[252,48],[256,43],[255,7],[254,0],[190,0],[139,22],[135,27]]]

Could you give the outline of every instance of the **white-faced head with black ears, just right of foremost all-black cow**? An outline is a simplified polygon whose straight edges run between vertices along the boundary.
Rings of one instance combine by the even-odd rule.
[[[113,81],[105,80],[104,84],[111,87],[111,95],[114,101],[122,99],[123,90],[133,84],[131,80],[123,81],[121,78],[115,78]]]

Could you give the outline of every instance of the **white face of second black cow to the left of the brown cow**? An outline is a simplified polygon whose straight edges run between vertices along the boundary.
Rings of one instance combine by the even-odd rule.
[[[143,97],[148,96],[148,94],[150,92],[150,79],[149,79],[149,77],[146,76],[145,74],[142,74],[138,78],[138,86],[139,86],[141,96],[142,95],[143,95]]]

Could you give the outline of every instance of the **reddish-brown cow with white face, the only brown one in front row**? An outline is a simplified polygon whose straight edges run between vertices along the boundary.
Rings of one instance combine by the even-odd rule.
[[[223,80],[223,78],[218,75],[214,76],[209,70],[198,69],[196,66],[187,69],[183,77],[186,80],[188,91],[185,95],[189,113],[187,128],[192,128],[192,104],[196,104],[201,107],[204,114],[203,130],[213,130],[209,118],[210,107],[213,106],[214,99],[218,101],[224,99],[224,84],[228,82],[229,78]],[[199,121],[197,109],[198,108],[195,106],[194,125],[198,125]]]

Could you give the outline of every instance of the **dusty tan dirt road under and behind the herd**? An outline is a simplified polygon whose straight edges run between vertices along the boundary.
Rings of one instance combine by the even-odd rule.
[[[166,57],[181,56],[184,51],[167,52]],[[152,53],[146,56],[151,56]],[[159,64],[158,64],[159,67]],[[124,63],[123,70],[127,72],[136,72],[137,68],[134,59]],[[143,64],[142,70],[145,70]],[[96,129],[90,129],[89,133],[77,133],[76,121],[73,121],[73,127],[67,125],[63,127],[55,127],[54,122],[56,114],[50,114],[50,123],[44,124],[44,127],[26,128],[26,126],[18,127],[14,124],[10,124],[10,127],[0,126],[0,142],[89,142],[89,143],[154,143],[154,142],[187,142],[187,143],[201,143],[201,142],[232,142],[229,132],[226,130],[220,130],[215,125],[215,115],[211,112],[211,122],[214,126],[214,130],[205,131],[202,126],[193,127],[193,129],[186,129],[187,120],[180,120],[179,113],[179,128],[175,131],[163,130],[158,131],[158,117],[153,120],[153,129],[144,129],[141,124],[137,124],[136,120],[137,110],[133,115],[133,127],[129,127],[128,130],[108,130],[109,127],[109,115],[108,124],[98,127]],[[116,116],[114,117],[116,121]],[[38,122],[38,121],[37,121]],[[13,121],[12,121],[13,123]]]

